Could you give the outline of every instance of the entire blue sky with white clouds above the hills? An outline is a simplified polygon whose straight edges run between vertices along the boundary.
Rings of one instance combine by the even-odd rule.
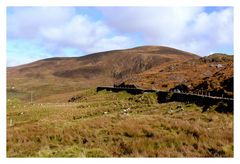
[[[143,45],[233,54],[233,8],[7,8],[7,66]]]

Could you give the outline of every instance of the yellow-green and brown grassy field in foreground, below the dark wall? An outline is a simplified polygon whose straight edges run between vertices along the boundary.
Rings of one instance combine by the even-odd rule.
[[[8,92],[8,157],[233,157],[232,114],[159,104],[154,93],[86,89],[71,103],[18,95]]]

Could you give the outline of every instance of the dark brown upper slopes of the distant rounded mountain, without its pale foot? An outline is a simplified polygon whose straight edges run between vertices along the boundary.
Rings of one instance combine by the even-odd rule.
[[[116,50],[76,58],[50,58],[31,64],[9,68],[9,75],[44,77],[51,75],[67,78],[121,78],[131,73],[148,70],[161,63],[197,58],[196,55],[168,47],[144,46]]]

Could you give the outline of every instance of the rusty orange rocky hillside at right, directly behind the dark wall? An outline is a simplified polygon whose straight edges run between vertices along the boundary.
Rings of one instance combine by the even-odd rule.
[[[127,83],[161,90],[169,90],[184,84],[191,92],[224,90],[225,96],[231,97],[233,95],[233,56],[213,54],[188,61],[165,63],[133,76],[127,80]]]

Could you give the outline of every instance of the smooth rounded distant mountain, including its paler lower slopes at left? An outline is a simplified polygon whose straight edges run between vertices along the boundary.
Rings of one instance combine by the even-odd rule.
[[[97,85],[112,85],[159,66],[199,59],[193,53],[164,46],[142,46],[57,57],[7,68],[8,89],[34,92],[35,97],[66,94]]]

